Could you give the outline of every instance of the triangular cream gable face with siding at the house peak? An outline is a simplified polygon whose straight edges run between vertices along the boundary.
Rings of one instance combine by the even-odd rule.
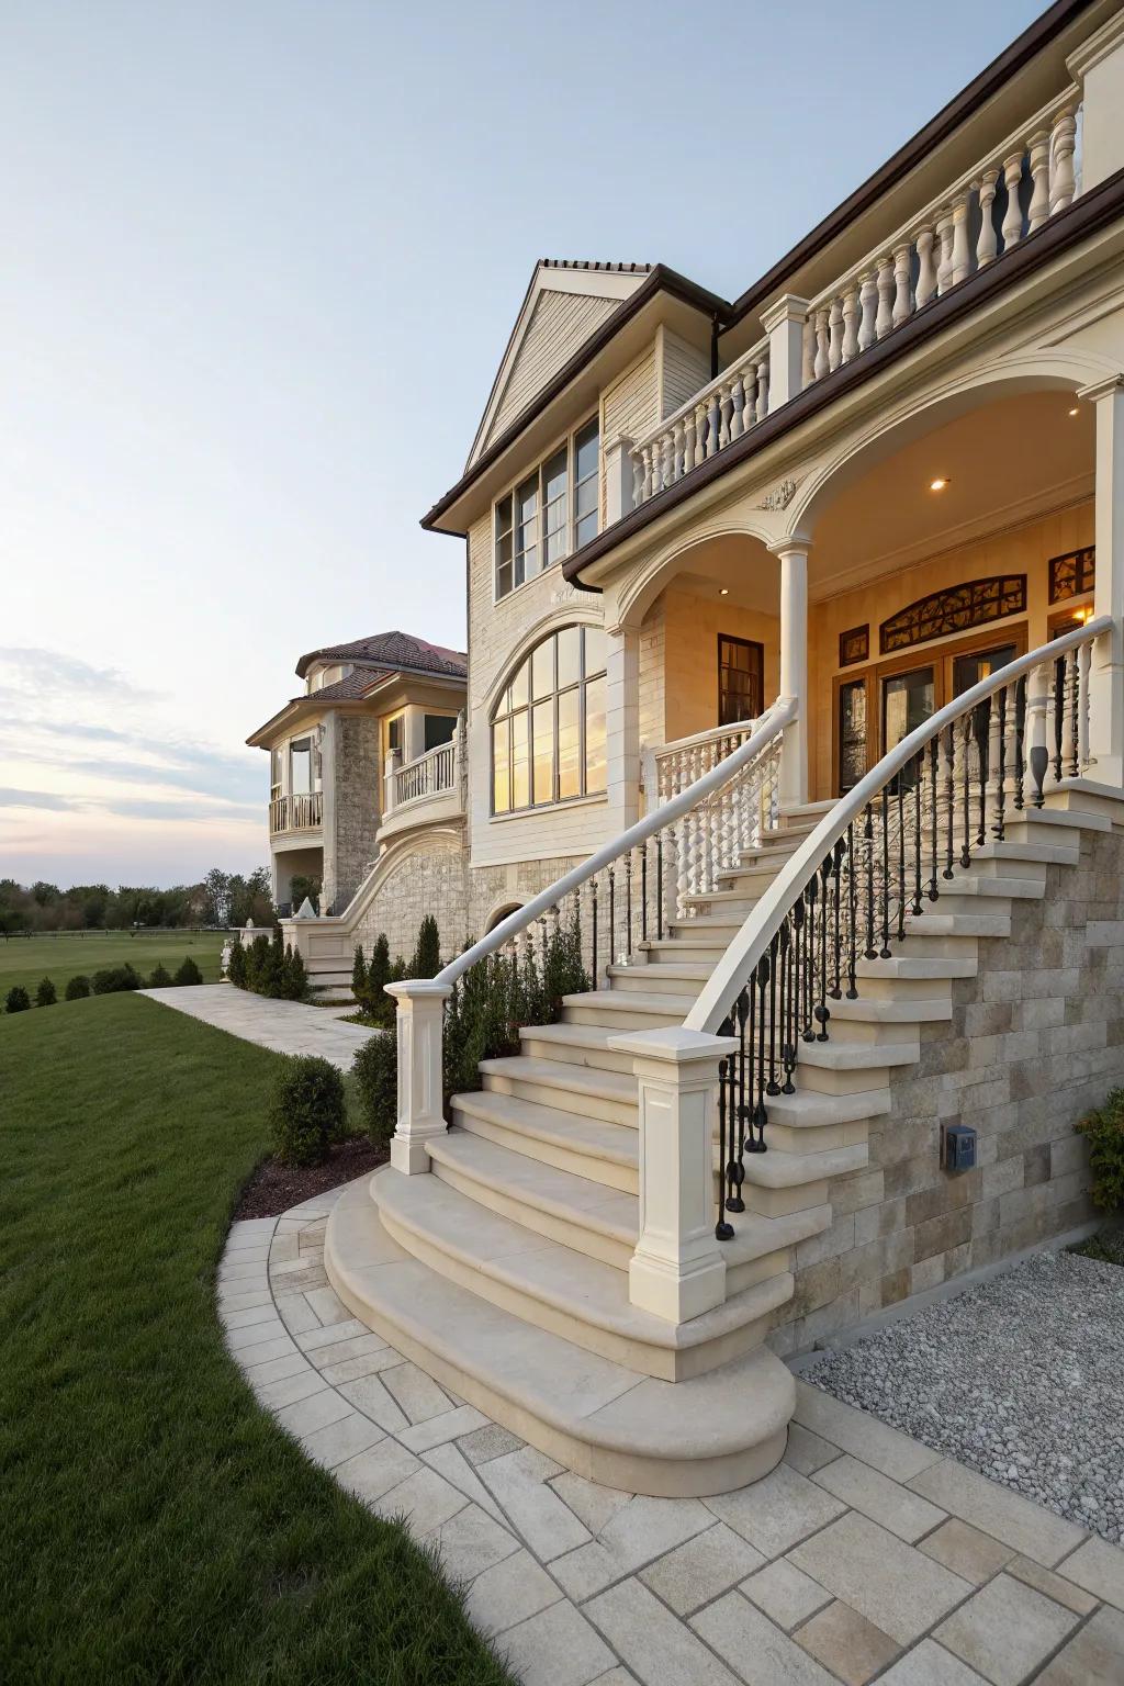
[[[650,273],[650,263],[539,258],[492,381],[467,469]]]

